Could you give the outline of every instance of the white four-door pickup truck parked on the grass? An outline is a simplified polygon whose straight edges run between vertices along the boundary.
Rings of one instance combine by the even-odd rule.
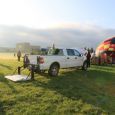
[[[51,76],[57,76],[61,68],[82,67],[87,70],[86,56],[77,48],[51,48],[47,55],[26,56],[24,63],[34,65],[37,73],[48,70]]]

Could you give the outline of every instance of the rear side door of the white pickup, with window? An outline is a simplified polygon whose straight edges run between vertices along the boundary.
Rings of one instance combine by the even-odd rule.
[[[75,63],[75,52],[73,49],[66,49],[67,51],[67,56],[66,56],[66,66],[67,67],[75,67],[76,63]]]

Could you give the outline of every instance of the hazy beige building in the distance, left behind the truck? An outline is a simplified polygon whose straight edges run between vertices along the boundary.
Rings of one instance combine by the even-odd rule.
[[[31,53],[33,51],[40,51],[40,46],[31,46],[28,42],[22,42],[16,44],[16,52],[19,50],[23,53]]]

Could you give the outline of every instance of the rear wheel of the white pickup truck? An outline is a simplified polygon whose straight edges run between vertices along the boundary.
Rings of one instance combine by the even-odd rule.
[[[50,76],[58,76],[58,73],[59,73],[59,65],[58,64],[53,64],[51,65],[49,71],[48,71],[48,74]]]

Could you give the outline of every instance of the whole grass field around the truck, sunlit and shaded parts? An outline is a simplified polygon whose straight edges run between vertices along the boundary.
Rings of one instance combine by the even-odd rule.
[[[22,62],[0,56],[0,115],[115,115],[115,67],[36,74],[27,82],[5,79],[18,65]]]

